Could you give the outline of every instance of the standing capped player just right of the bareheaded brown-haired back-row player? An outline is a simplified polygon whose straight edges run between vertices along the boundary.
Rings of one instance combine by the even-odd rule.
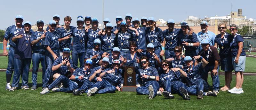
[[[84,19],[82,16],[77,17],[77,28],[72,31],[73,36],[73,50],[72,50],[72,60],[74,69],[78,66],[78,59],[80,62],[80,67],[84,67],[84,57],[85,57],[85,29],[83,28]]]

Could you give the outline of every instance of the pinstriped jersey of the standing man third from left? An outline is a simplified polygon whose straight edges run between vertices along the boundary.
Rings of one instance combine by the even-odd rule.
[[[44,31],[36,31],[31,36],[31,41],[34,41],[41,37],[41,35],[44,34]],[[44,53],[45,47],[44,47],[44,39],[40,39],[38,43],[32,45],[32,52],[33,53]]]

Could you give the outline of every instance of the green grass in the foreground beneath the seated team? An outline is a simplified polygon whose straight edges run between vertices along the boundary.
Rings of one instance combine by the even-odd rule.
[[[42,84],[41,76],[38,74],[39,85]],[[211,84],[211,78],[208,78]],[[148,99],[148,95],[137,95],[136,92],[119,92],[96,94],[92,97],[86,97],[86,94],[81,96],[72,96],[71,93],[51,92],[49,94],[40,95],[41,87],[37,90],[5,90],[5,72],[0,72],[0,109],[201,109],[201,110],[232,110],[246,109],[253,110],[256,108],[255,94],[255,79],[256,76],[244,76],[242,94],[231,94],[222,92],[218,97],[204,97],[204,99],[196,99],[196,96],[191,96],[191,100],[183,100],[177,94],[174,94],[174,99],[165,99],[163,96],[156,96],[153,99]],[[220,86],[224,85],[224,76],[220,75]],[[21,84],[21,81],[20,81]],[[29,73],[29,85],[31,86],[31,72]],[[231,83],[231,87],[235,86],[235,76]]]

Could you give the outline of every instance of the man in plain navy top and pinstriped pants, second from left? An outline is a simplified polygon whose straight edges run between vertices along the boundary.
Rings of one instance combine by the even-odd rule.
[[[12,37],[12,42],[16,44],[14,52],[14,74],[12,79],[12,88],[9,91],[14,91],[19,86],[20,75],[22,79],[21,89],[28,90],[28,73],[32,58],[31,35],[33,31],[31,23],[24,23],[24,30],[17,32]]]

